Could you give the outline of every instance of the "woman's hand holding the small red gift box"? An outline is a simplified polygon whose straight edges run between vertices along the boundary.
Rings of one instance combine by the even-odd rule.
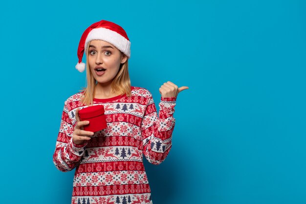
[[[90,136],[93,136],[93,132],[85,131],[83,129],[84,125],[89,124],[88,120],[81,121],[79,117],[79,108],[75,111],[75,119],[76,119],[76,125],[74,127],[72,141],[75,144],[83,144],[86,140],[91,139]]]

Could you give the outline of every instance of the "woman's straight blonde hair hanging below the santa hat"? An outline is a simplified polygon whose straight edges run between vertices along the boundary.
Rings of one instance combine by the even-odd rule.
[[[87,87],[83,88],[84,91],[82,94],[81,102],[83,105],[92,105],[93,97],[95,93],[95,85],[97,81],[94,79],[88,64],[88,54],[89,54],[89,44],[87,45],[87,53],[86,54],[86,78],[87,78]],[[121,54],[123,54],[121,52]],[[120,65],[119,71],[116,76],[113,78],[111,82],[111,93],[119,93],[121,95],[126,94],[127,96],[131,96],[131,80],[129,75],[129,66],[128,59],[125,63]]]

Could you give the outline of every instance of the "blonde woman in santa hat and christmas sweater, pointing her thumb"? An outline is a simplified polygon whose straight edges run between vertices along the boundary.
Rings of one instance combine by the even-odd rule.
[[[150,91],[131,87],[128,72],[130,40],[122,27],[108,21],[90,25],[78,47],[79,63],[85,70],[87,88],[70,96],[64,105],[53,155],[61,171],[74,168],[72,204],[152,204],[151,190],[143,166],[166,159],[175,126],[178,88],[164,83],[159,91],[159,118]],[[79,110],[104,106],[107,127],[85,131]]]

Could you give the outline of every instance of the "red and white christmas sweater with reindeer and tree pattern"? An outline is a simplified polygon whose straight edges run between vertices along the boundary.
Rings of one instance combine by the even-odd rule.
[[[77,145],[72,141],[75,111],[83,92],[64,105],[53,162],[66,172],[75,168],[71,204],[152,204],[143,155],[153,164],[164,161],[172,147],[176,97],[161,97],[159,115],[152,94],[131,87],[126,94],[94,99],[103,105],[107,128]]]

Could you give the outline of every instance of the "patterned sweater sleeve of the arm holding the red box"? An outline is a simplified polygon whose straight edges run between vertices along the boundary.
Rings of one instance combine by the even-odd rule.
[[[69,117],[68,109],[65,104],[55,152],[53,154],[53,163],[60,171],[66,172],[74,169],[84,154],[87,142],[82,145],[77,145],[72,141],[75,125],[76,122],[72,124],[72,119]]]

